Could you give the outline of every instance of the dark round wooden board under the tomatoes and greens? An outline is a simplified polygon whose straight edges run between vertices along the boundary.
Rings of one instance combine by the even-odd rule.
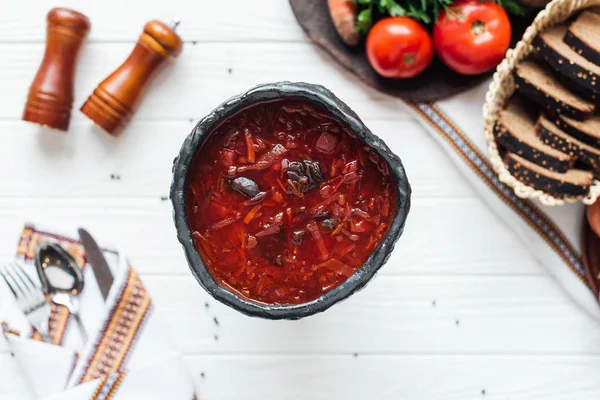
[[[348,47],[338,37],[329,17],[326,0],[290,0],[296,19],[317,45],[325,49],[338,63],[358,76],[363,82],[384,93],[406,101],[435,101],[467,90],[490,77],[494,71],[476,76],[457,74],[434,58],[429,68],[412,79],[382,78],[371,68],[364,51],[364,43]],[[511,17],[514,46],[535,17]]]

